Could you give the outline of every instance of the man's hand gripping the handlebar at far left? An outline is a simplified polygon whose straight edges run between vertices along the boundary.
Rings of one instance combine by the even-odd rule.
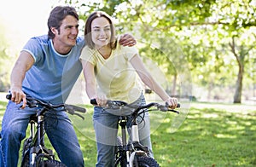
[[[25,93],[19,89],[19,88],[12,88],[10,89],[11,92],[11,101],[14,101],[16,104],[20,104],[21,101],[23,101],[21,109],[24,109],[26,107],[26,95]]]

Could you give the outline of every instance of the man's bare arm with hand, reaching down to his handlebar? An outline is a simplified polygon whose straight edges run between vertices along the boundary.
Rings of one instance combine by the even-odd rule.
[[[12,94],[11,101],[15,101],[17,104],[20,101],[23,101],[23,105],[21,108],[26,107],[26,95],[22,91],[22,82],[25,78],[26,72],[32,67],[34,64],[34,59],[32,55],[30,55],[26,51],[21,51],[18,60],[15,62],[15,66],[11,72],[10,82],[11,87],[10,91]]]

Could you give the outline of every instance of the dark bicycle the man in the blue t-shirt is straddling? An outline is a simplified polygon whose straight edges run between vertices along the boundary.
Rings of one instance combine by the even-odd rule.
[[[6,95],[8,100],[11,99],[11,95]],[[84,117],[77,112],[86,112],[83,107],[77,107],[68,104],[51,104],[49,102],[40,101],[29,95],[26,95],[26,107],[38,107],[36,114],[30,117],[30,136],[23,141],[23,147],[21,150],[21,167],[38,167],[38,166],[57,166],[66,167],[61,161],[55,159],[55,155],[52,149],[45,146],[44,143],[44,113],[49,110],[55,110],[60,108],[61,111],[66,111],[72,115],[78,115],[80,118]],[[76,112],[77,111],[77,112]],[[37,128],[37,130],[36,130]]]

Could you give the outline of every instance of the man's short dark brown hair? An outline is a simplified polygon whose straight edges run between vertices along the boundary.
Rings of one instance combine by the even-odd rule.
[[[57,6],[49,14],[48,18],[48,37],[53,39],[55,34],[51,32],[50,28],[55,27],[60,32],[60,26],[62,24],[62,20],[65,19],[67,15],[72,15],[77,20],[79,20],[79,14],[77,14],[76,9],[70,6]]]

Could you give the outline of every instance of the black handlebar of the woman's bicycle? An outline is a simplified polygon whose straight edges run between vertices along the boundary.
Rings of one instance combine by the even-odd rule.
[[[91,99],[90,104],[97,105],[96,99]],[[157,110],[160,110],[161,112],[176,112],[179,114],[179,112],[177,112],[176,110],[171,109],[167,103],[166,103],[166,105],[161,105],[160,103],[157,103],[157,102],[150,102],[146,105],[138,106],[138,105],[128,104],[125,101],[110,101],[110,100],[108,100],[107,105],[108,105],[108,107],[118,107],[118,108],[125,106],[125,107],[130,107],[130,108],[136,109],[137,111],[146,109],[146,108],[150,108],[150,107],[157,107]],[[177,108],[178,107],[180,107],[179,103],[177,104]],[[118,108],[116,108],[116,109],[118,109]]]

